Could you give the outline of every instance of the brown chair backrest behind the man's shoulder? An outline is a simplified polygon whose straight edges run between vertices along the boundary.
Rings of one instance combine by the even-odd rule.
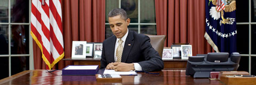
[[[145,34],[147,35],[147,34]],[[164,49],[165,35],[147,35],[150,38],[150,44],[162,57]]]

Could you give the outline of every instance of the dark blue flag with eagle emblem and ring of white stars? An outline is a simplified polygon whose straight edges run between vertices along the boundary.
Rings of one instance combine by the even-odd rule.
[[[205,39],[215,52],[236,52],[236,1],[205,0]]]

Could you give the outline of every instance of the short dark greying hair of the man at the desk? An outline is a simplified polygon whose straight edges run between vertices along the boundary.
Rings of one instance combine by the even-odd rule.
[[[117,15],[121,15],[121,18],[123,20],[127,19],[127,14],[122,8],[114,8],[113,10],[111,10],[109,12],[108,17],[111,18],[111,17],[117,16]]]

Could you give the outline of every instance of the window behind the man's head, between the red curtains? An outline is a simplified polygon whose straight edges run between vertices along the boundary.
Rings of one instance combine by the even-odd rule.
[[[156,35],[154,0],[106,0],[106,39],[113,35],[108,23],[108,13],[114,8],[123,8],[126,11],[131,19],[129,30]]]

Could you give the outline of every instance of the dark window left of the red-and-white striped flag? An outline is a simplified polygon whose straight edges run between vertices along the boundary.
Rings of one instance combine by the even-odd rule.
[[[29,9],[30,1],[0,1],[0,79],[33,69]]]

